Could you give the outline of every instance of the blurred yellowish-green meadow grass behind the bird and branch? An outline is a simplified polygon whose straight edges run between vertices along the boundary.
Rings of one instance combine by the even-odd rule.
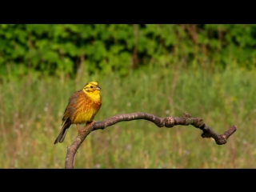
[[[194,126],[159,129],[144,120],[120,122],[89,134],[75,168],[255,168],[255,79],[255,70],[178,67],[148,67],[122,79],[115,74],[80,74],[74,81],[39,81],[34,74],[13,79],[0,85],[0,167],[63,168],[66,147],[78,133],[70,126],[65,141],[54,145],[62,113],[75,90],[97,81],[103,101],[95,121],[138,111],[161,118],[186,112],[218,134],[233,125],[238,130],[218,146]]]

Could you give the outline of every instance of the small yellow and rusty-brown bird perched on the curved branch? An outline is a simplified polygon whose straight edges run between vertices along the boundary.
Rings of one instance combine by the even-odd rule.
[[[62,117],[62,128],[56,138],[54,144],[63,142],[66,132],[72,124],[75,124],[79,130],[78,124],[93,122],[95,115],[102,106],[102,96],[98,86],[98,82],[88,82],[82,90],[77,90],[69,98]]]

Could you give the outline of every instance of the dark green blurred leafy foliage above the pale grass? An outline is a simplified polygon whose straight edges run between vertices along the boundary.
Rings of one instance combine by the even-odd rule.
[[[80,66],[120,76],[150,64],[250,69],[255,46],[256,25],[246,24],[2,24],[0,80],[31,71],[74,78]]]

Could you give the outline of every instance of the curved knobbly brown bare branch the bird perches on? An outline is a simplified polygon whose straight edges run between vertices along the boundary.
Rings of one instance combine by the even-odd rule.
[[[88,134],[94,130],[104,130],[107,126],[113,126],[118,122],[124,121],[133,121],[137,119],[144,119],[154,124],[158,127],[166,126],[166,128],[171,128],[173,126],[189,126],[192,125],[195,128],[202,130],[202,138],[214,138],[216,144],[223,145],[226,144],[227,139],[230,135],[234,134],[237,130],[236,126],[231,126],[229,130],[226,130],[224,134],[216,134],[210,126],[206,126],[202,118],[192,118],[190,114],[184,113],[181,118],[167,117],[167,118],[158,118],[154,114],[147,114],[144,112],[137,112],[132,114],[117,114],[111,118],[107,118],[102,122],[93,122],[85,126],[83,134],[79,134],[74,139],[74,142],[68,146],[66,153],[66,169],[74,168],[74,155],[76,154],[79,146],[86,139]]]

